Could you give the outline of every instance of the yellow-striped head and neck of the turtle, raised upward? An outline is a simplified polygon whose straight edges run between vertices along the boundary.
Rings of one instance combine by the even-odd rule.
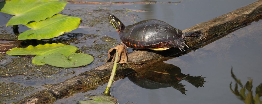
[[[109,22],[116,28],[117,33],[125,28],[125,25],[114,15],[108,15]]]

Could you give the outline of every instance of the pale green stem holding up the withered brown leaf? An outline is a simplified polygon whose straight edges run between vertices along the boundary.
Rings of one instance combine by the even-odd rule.
[[[106,90],[105,90],[105,94],[106,95],[109,95],[109,91],[110,91],[110,88],[111,88],[111,85],[112,85],[112,82],[114,80],[114,75],[116,74],[116,67],[117,67],[117,58],[118,58],[118,52],[116,50],[116,57],[115,57],[115,61],[114,61],[114,66],[113,66],[113,69],[112,69],[112,72],[111,72],[111,76],[110,76],[110,79],[107,83],[107,86],[106,86]]]

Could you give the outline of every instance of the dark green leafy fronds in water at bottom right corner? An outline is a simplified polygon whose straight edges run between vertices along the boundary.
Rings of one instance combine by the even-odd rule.
[[[238,97],[239,100],[244,101],[245,104],[262,104],[262,101],[260,100],[260,97],[262,96],[262,83],[256,87],[255,96],[253,96],[252,79],[250,79],[245,85],[243,85],[241,81],[237,79],[236,75],[233,74],[233,68],[231,68],[231,77],[236,81],[236,84],[233,90],[231,82],[230,90]],[[239,91],[238,86],[241,87]]]

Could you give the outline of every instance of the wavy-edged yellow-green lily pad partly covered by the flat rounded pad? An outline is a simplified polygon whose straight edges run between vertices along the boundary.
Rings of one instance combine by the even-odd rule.
[[[33,64],[43,65],[43,57],[52,53],[62,53],[65,56],[69,56],[71,53],[75,53],[78,50],[77,47],[71,45],[65,45],[62,43],[52,44],[39,44],[36,47],[28,46],[26,48],[13,48],[6,52],[8,55],[36,55],[32,59]]]

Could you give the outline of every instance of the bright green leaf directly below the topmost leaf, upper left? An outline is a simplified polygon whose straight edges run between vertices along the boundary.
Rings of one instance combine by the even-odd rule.
[[[26,26],[31,28],[18,36],[18,40],[26,39],[49,39],[63,35],[77,29],[81,18],[57,14],[45,21],[31,22]]]

